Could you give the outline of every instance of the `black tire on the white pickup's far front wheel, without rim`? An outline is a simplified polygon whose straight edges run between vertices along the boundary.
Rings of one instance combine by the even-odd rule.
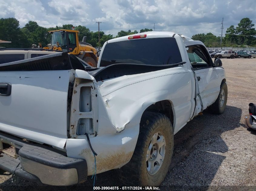
[[[223,105],[221,104],[221,100],[222,100],[222,90],[224,91],[224,103]],[[210,106],[208,107],[208,110],[211,113],[215,113],[215,114],[221,114],[224,112],[226,105],[227,105],[227,100],[228,100],[228,86],[226,84],[226,82],[223,82],[221,84],[221,89],[220,89],[220,93],[218,95],[217,100]]]

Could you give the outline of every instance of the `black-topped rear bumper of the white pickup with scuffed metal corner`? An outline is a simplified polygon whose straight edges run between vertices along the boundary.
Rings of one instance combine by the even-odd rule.
[[[55,152],[44,145],[30,144],[2,132],[0,142],[13,145],[17,156],[12,158],[8,153],[2,153],[0,168],[19,177],[54,186],[73,185],[87,179],[85,160],[66,157],[64,152]]]

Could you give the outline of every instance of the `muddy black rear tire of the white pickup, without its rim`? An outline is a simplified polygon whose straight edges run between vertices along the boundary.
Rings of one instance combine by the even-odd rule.
[[[151,138],[158,132],[165,138],[165,156],[159,170],[151,175],[147,170],[146,157]],[[140,132],[132,158],[118,170],[121,183],[133,186],[159,186],[168,173],[173,145],[173,129],[169,118],[161,113],[144,112],[141,117]]]

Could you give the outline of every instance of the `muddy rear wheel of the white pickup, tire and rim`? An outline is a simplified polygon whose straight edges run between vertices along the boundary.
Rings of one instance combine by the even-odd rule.
[[[119,169],[125,185],[159,186],[165,179],[173,153],[173,129],[167,116],[145,112],[131,160]]]

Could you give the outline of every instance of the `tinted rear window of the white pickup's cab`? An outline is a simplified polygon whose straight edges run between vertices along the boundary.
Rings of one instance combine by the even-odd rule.
[[[148,38],[106,44],[100,66],[118,63],[167,65],[182,62],[175,38]]]

